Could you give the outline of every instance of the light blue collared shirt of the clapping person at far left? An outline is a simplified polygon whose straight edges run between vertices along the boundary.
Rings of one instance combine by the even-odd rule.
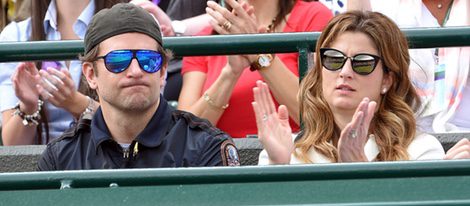
[[[88,23],[91,21],[93,14],[95,12],[95,1],[91,0],[88,3],[88,6],[82,11],[77,21],[73,25],[74,33],[80,38],[85,37],[85,32],[88,26]],[[57,8],[55,1],[51,1],[47,12],[45,14],[44,20],[44,31],[46,34],[46,39],[48,41],[60,40],[61,35],[57,28]],[[29,41],[31,36],[31,18],[28,18],[21,22],[11,22],[8,24],[0,34],[0,42],[5,41]],[[66,67],[65,61],[59,61],[62,67]],[[11,75],[15,71],[18,63],[16,62],[7,62],[0,63],[0,94],[2,98],[0,100],[0,112],[3,112],[8,109],[15,107],[16,103],[19,101],[13,90]],[[75,83],[75,88],[78,88],[80,83],[80,77],[82,74],[81,62],[78,60],[70,61],[70,67],[68,68],[72,79]],[[57,108],[54,105],[46,102],[45,107],[47,108],[47,115],[49,121],[49,134],[51,140],[59,137],[65,130],[67,130],[74,121],[73,116],[62,108]],[[43,130],[44,138],[45,130]],[[42,142],[46,140],[43,139]]]

